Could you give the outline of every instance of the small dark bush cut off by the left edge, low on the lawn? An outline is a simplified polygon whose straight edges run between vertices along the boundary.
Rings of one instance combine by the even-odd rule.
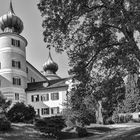
[[[7,131],[10,130],[11,123],[6,119],[0,119],[0,131]]]

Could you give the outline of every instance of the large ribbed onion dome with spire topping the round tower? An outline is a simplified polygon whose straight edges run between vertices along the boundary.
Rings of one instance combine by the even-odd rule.
[[[23,22],[15,15],[11,1],[9,12],[0,17],[0,28],[3,32],[12,32],[17,34],[20,34],[23,30]]]

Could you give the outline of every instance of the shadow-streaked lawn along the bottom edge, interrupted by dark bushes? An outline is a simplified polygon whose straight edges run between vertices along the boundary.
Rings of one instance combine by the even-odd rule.
[[[78,138],[71,130],[63,132],[61,140],[140,140],[140,124],[128,123],[119,125],[96,125],[87,127],[89,135]],[[12,124],[9,132],[0,132],[0,140],[51,140],[41,135],[33,125]]]

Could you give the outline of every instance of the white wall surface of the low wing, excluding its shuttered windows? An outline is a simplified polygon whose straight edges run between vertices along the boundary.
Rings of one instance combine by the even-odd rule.
[[[59,99],[58,100],[51,100],[51,93],[59,93]],[[41,96],[49,94],[49,100],[48,101],[41,101]],[[37,111],[39,109],[39,115],[41,117],[50,117],[56,114],[51,113],[51,108],[59,107],[59,113],[57,115],[60,115],[62,109],[64,108],[63,103],[66,101],[66,94],[67,94],[67,88],[53,88],[53,89],[47,89],[42,91],[32,91],[27,92],[27,104],[30,104],[34,107],[34,109]],[[39,101],[38,102],[32,102],[32,95],[39,95]],[[49,114],[42,115],[42,109],[43,108],[49,108]]]

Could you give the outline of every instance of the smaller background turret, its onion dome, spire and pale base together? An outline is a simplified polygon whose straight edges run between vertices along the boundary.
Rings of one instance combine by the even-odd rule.
[[[43,65],[44,75],[48,80],[59,79],[60,77],[56,74],[58,70],[58,65],[52,59],[50,48],[49,56],[45,64]]]

